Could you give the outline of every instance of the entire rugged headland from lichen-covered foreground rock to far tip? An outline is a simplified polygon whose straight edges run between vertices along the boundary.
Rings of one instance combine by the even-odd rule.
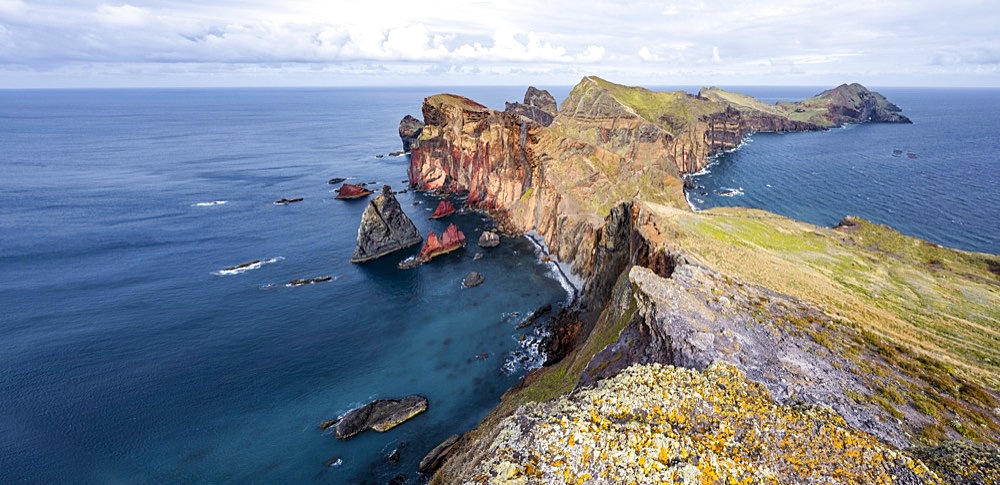
[[[845,217],[694,212],[754,132],[909,123],[859,84],[767,104],[589,76],[558,106],[438,94],[411,186],[536,231],[584,281],[549,365],[425,459],[432,483],[997,483],[1000,257]]]

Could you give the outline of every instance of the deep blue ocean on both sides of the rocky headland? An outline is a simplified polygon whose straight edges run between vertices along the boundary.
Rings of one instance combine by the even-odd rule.
[[[692,204],[998,252],[1000,91],[879,90],[914,124],[754,135]],[[517,323],[568,298],[523,238],[409,271],[416,247],[348,262],[366,203],[327,180],[404,188],[407,157],[377,155],[443,91],[502,109],[524,87],[0,91],[0,483],[417,483],[426,451],[537,365]],[[398,197],[422,234],[449,222]],[[472,241],[491,224],[450,221]],[[470,271],[486,282],[462,288]],[[409,394],[429,410],[389,432],[317,428]]]

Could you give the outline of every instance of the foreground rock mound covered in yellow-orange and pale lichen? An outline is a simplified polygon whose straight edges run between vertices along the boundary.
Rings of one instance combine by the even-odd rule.
[[[922,462],[829,408],[776,404],[735,367],[639,365],[594,389],[520,407],[480,483],[940,483]],[[440,475],[440,474],[439,474]]]

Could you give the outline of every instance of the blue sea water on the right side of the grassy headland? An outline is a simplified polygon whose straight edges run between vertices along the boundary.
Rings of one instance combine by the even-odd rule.
[[[770,103],[821,91],[732,89]],[[1000,254],[1000,89],[876,90],[913,124],[754,134],[694,178],[699,187],[688,201],[702,209],[766,209],[822,226],[860,216],[945,246]]]

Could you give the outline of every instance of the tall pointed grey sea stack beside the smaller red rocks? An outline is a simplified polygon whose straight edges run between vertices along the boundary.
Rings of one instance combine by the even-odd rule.
[[[382,186],[382,193],[368,203],[358,226],[358,246],[352,263],[363,263],[393,251],[420,243],[423,238],[417,226],[406,216],[392,188]]]

